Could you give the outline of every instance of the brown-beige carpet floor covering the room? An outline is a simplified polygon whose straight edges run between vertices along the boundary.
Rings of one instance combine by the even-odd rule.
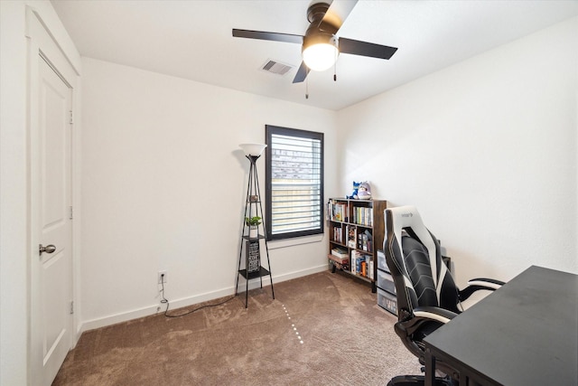
[[[420,372],[368,286],[329,271],[274,286],[275,300],[249,291],[247,309],[241,293],[87,331],[53,385],[385,385]]]

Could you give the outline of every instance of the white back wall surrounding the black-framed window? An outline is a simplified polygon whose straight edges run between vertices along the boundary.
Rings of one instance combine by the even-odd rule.
[[[249,166],[238,144],[263,143],[273,124],[321,131],[331,149],[335,112],[82,64],[84,328],[155,312],[159,270],[172,306],[233,294]],[[325,162],[334,187],[335,153]],[[326,269],[326,251],[324,241],[272,249],[274,284]]]

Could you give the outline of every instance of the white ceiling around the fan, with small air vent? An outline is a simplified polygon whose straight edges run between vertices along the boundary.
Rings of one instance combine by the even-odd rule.
[[[335,110],[578,14],[578,0],[360,0],[338,35],[398,47],[396,54],[342,54],[338,80],[332,69],[311,72],[305,99],[306,83],[292,83],[298,44],[233,38],[231,30],[303,35],[310,0],[51,3],[82,56]],[[294,69],[261,71],[267,60]]]

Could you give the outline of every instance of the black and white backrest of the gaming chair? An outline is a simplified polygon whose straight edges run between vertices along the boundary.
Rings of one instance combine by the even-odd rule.
[[[443,263],[440,244],[415,206],[390,208],[385,214],[384,251],[396,284],[397,309],[410,315],[416,306],[459,312],[458,288]]]

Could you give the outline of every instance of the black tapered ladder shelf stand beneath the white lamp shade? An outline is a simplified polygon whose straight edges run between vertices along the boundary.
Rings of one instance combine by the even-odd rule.
[[[248,306],[248,290],[249,280],[258,278],[261,281],[261,288],[263,288],[263,277],[268,276],[271,280],[271,295],[275,299],[275,291],[273,289],[273,277],[271,276],[271,263],[269,261],[269,248],[265,237],[266,226],[263,216],[263,205],[261,204],[261,193],[259,189],[259,180],[256,174],[256,160],[259,155],[246,155],[251,162],[249,169],[249,180],[247,184],[247,200],[245,202],[245,216],[243,218],[243,230],[241,231],[241,245],[238,254],[238,272],[237,284],[235,285],[235,296],[238,295],[238,277],[239,275],[245,278],[245,308]],[[258,216],[261,218],[261,223],[257,226],[256,234],[251,234],[245,218]],[[267,268],[261,265],[261,240],[264,241]],[[245,248],[244,248],[245,247]],[[245,251],[245,268],[241,269],[243,262],[243,251]]]

